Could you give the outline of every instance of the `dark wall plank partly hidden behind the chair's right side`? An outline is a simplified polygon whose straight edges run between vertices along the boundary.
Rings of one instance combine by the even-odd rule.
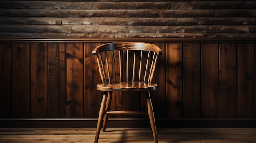
[[[151,99],[153,109],[155,112],[155,118],[164,118],[166,116],[165,111],[165,95],[166,95],[166,43],[153,43],[159,46],[162,50],[162,55],[159,55],[157,61],[157,67],[155,70],[154,81],[157,83],[157,90],[151,92]]]

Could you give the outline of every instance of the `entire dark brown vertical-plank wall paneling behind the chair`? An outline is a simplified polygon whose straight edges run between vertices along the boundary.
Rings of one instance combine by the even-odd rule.
[[[0,117],[97,118],[101,80],[92,50],[102,43],[0,42]],[[154,44],[163,51],[156,118],[256,118],[256,42]],[[128,95],[116,93],[111,108],[145,109],[144,94]]]

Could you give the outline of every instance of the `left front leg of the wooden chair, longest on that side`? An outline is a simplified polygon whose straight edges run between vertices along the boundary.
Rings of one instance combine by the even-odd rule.
[[[99,140],[99,133],[101,131],[101,124],[102,124],[103,116],[105,114],[107,94],[108,94],[107,92],[104,92],[103,98],[102,98],[102,101],[101,101],[101,107],[99,109],[99,117],[98,117],[97,130],[96,130],[94,143],[98,143],[98,140]]]

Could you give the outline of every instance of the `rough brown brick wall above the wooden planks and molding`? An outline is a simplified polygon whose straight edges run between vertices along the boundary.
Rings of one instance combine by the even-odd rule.
[[[256,2],[1,0],[0,37],[256,37]]]

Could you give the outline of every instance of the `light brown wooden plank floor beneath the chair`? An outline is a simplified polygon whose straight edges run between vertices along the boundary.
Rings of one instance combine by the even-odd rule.
[[[0,143],[93,143],[95,128],[0,128]],[[159,143],[256,143],[256,128],[157,129]],[[107,129],[99,143],[154,143],[150,129]]]

